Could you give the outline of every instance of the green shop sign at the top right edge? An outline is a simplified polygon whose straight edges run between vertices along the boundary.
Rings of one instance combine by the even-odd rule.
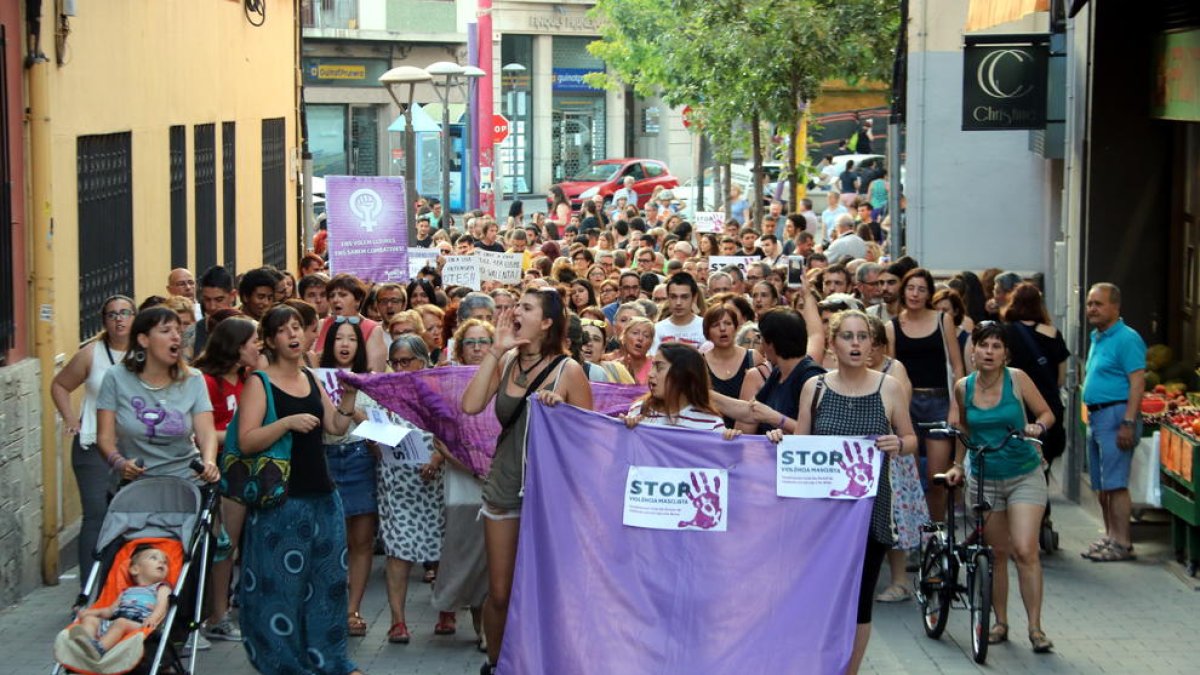
[[[1151,117],[1200,121],[1200,30],[1154,38],[1153,96]]]

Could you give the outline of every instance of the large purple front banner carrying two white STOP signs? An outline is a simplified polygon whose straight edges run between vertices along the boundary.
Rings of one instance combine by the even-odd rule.
[[[874,500],[776,497],[762,436],[628,430],[536,401],[530,416],[498,673],[846,670]],[[709,508],[726,531],[623,525],[634,466],[726,470],[726,498]],[[695,491],[700,513],[708,492]]]

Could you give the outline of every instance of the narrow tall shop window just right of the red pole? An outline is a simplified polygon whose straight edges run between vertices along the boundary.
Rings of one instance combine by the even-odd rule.
[[[533,184],[533,36],[504,35],[500,37],[500,61],[521,64],[524,71],[503,72],[502,104],[509,119],[509,137],[499,148],[500,187],[505,195],[514,190],[529,193]]]

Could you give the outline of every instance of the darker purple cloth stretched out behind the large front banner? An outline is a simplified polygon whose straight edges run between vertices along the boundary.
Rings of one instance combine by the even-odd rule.
[[[338,371],[337,376],[380,406],[437,436],[455,459],[476,476],[486,476],[496,454],[496,440],[500,436],[494,399],[479,414],[467,414],[458,407],[476,370],[479,368],[473,365],[455,365],[379,375]],[[605,414],[624,413],[629,404],[644,393],[646,387],[640,384],[592,383],[593,407]]]

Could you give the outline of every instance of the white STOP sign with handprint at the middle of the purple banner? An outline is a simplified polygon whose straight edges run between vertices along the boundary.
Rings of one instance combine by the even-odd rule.
[[[724,468],[630,466],[622,522],[648,530],[725,532],[728,489]]]

